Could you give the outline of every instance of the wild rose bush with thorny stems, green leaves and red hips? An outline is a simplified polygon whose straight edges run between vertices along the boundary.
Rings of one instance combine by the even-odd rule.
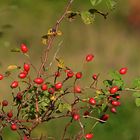
[[[110,72],[109,78],[103,80],[103,86],[98,86],[100,80],[99,73],[93,73],[89,76],[92,79],[90,84],[82,80],[87,74],[83,71],[73,71],[69,64],[58,58],[57,51],[54,59],[57,63],[56,70],[48,73],[48,67],[53,65],[48,62],[48,54],[53,47],[55,38],[62,35],[59,29],[60,23],[67,18],[69,21],[76,17],[81,17],[85,24],[91,24],[95,20],[96,15],[101,15],[105,19],[108,12],[103,13],[95,9],[96,5],[105,3],[108,9],[112,10],[115,5],[114,0],[90,0],[93,8],[87,11],[71,11],[70,7],[73,0],[69,0],[62,16],[57,20],[56,24],[48,30],[48,33],[42,37],[42,43],[46,45],[44,55],[41,57],[40,67],[37,69],[30,62],[28,46],[21,43],[18,48],[12,49],[12,52],[19,52],[28,57],[29,61],[21,66],[9,65],[8,70],[0,74],[0,80],[10,78],[13,70],[16,70],[16,77],[12,77],[11,88],[12,101],[2,100],[0,110],[1,134],[5,127],[10,127],[12,131],[19,134],[21,140],[31,140],[32,131],[39,124],[49,122],[59,118],[69,118],[69,121],[63,128],[63,135],[60,139],[94,139],[94,128],[99,123],[106,123],[110,117],[110,113],[116,113],[120,107],[120,97],[122,92],[134,92],[136,97],[136,105],[140,106],[140,79],[133,81],[130,88],[126,87],[123,77],[127,75],[128,68],[120,67]],[[31,52],[30,52],[31,53]],[[85,54],[83,65],[88,65],[96,61],[94,53]],[[36,71],[37,75],[32,76],[32,71]],[[69,84],[67,84],[69,82]],[[68,100],[66,100],[66,98]],[[12,106],[12,109],[7,109]],[[86,122],[92,121],[90,131],[87,131]],[[72,137],[66,138],[67,130],[73,122],[79,125],[79,131]],[[3,136],[1,135],[1,139]],[[39,138],[44,139],[43,137]],[[53,139],[53,136],[46,136],[45,139]]]

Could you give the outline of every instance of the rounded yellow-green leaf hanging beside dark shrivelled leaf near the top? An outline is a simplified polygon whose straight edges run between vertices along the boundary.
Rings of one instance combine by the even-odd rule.
[[[95,20],[95,14],[91,14],[89,11],[81,12],[81,18],[85,24],[92,24]]]

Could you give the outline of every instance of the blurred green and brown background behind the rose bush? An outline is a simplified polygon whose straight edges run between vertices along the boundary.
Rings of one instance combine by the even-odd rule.
[[[0,0],[0,71],[7,69],[9,64],[22,65],[27,61],[18,53],[11,53],[10,49],[19,47],[25,42],[30,48],[32,63],[39,67],[41,52],[41,36],[45,35],[66,5],[66,0]],[[139,3],[138,3],[139,5]],[[91,8],[88,1],[75,0],[74,10]],[[101,8],[102,9],[102,8]],[[87,53],[93,53],[95,60],[87,68],[87,73],[100,73],[100,79],[108,77],[112,69],[128,67],[128,74],[124,76],[130,85],[132,79],[140,75],[140,22],[134,18],[140,14],[131,0],[118,1],[116,9],[107,20],[97,16],[93,25],[84,25],[80,18],[73,22],[64,22],[60,26],[63,32],[58,37],[50,53],[50,60],[63,41],[58,56],[76,71],[82,70],[82,61]],[[138,13],[139,12],[139,13]],[[136,13],[136,14],[133,14]],[[0,100],[9,98],[10,81],[0,81]],[[106,124],[100,124],[94,129],[94,140],[139,140],[140,139],[140,108],[134,103],[131,93],[124,93],[122,105],[117,115],[111,114]],[[36,129],[34,136],[49,134],[59,140],[62,134],[64,120],[52,121]],[[74,133],[75,124],[70,127],[69,134]],[[4,140],[18,139],[10,129],[5,129]]]

